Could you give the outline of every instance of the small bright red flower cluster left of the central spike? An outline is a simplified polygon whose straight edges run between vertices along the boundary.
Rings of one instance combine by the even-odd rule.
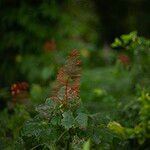
[[[20,94],[22,91],[29,89],[29,84],[26,82],[14,83],[11,85],[11,94],[13,96]]]

